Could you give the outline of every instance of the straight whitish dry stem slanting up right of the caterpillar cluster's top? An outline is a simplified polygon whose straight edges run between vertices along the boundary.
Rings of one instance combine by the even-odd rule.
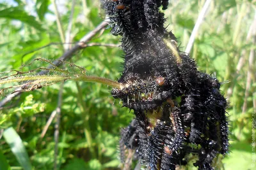
[[[194,27],[194,29],[191,33],[191,36],[190,36],[189,41],[188,41],[188,45],[187,45],[186,50],[185,50],[186,53],[189,53],[191,51],[191,48],[192,48],[192,46],[194,44],[194,41],[195,41],[195,38],[196,38],[196,34],[199,30],[200,25],[202,24],[202,22],[204,20],[205,14],[206,14],[207,9],[209,8],[210,4],[211,4],[211,0],[207,0],[205,2],[204,6],[202,8],[202,11],[200,12],[200,14],[199,14],[199,16],[196,20],[195,27]]]

